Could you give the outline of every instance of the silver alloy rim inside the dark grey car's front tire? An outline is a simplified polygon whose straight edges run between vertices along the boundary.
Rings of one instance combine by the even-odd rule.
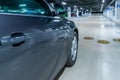
[[[74,36],[71,47],[71,57],[73,61],[75,61],[76,56],[77,56],[77,38],[76,36]]]

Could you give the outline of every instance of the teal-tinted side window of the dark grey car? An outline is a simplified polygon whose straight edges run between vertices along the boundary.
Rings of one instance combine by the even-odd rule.
[[[0,12],[49,15],[43,3],[36,0],[0,0]]]

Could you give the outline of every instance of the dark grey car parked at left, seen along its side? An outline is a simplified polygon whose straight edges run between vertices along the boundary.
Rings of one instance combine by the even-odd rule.
[[[58,14],[44,0],[0,0],[0,80],[53,80],[74,65],[78,29]]]

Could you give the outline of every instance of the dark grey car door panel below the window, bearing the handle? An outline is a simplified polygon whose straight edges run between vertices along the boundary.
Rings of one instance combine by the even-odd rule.
[[[58,64],[62,21],[32,13],[0,14],[0,80],[49,80]]]

